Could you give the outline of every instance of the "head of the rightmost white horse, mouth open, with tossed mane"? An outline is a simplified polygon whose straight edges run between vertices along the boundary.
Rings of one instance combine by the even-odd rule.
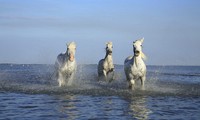
[[[142,43],[144,42],[144,38],[136,40],[133,42],[133,52],[135,57],[142,57],[143,59],[146,59],[145,54],[142,52]]]

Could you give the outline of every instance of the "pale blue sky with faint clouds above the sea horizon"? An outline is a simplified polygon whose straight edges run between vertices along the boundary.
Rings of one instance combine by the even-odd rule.
[[[78,64],[133,55],[144,37],[147,65],[200,65],[199,0],[0,0],[0,63],[54,64],[66,43]]]

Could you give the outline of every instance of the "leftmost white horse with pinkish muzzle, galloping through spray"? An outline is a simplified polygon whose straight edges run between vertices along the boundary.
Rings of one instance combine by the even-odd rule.
[[[56,77],[59,86],[70,86],[73,81],[73,77],[76,71],[76,60],[75,60],[76,44],[70,42],[67,44],[67,51],[60,53],[55,63]]]

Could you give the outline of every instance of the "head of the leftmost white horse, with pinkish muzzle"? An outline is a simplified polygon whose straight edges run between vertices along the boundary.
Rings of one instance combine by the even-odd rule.
[[[75,59],[75,52],[76,52],[76,44],[75,42],[70,42],[67,44],[67,56],[68,59],[73,62]]]

